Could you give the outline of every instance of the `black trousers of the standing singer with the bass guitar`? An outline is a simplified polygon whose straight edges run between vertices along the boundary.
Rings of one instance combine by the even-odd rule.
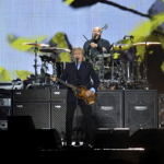
[[[81,108],[84,119],[84,128],[85,128],[85,142],[92,142],[92,106],[85,104],[83,99],[78,98],[78,105]],[[77,108],[77,102],[68,102],[67,103],[67,113],[66,113],[66,141],[67,144],[71,144],[72,142],[72,125],[74,112]]]

